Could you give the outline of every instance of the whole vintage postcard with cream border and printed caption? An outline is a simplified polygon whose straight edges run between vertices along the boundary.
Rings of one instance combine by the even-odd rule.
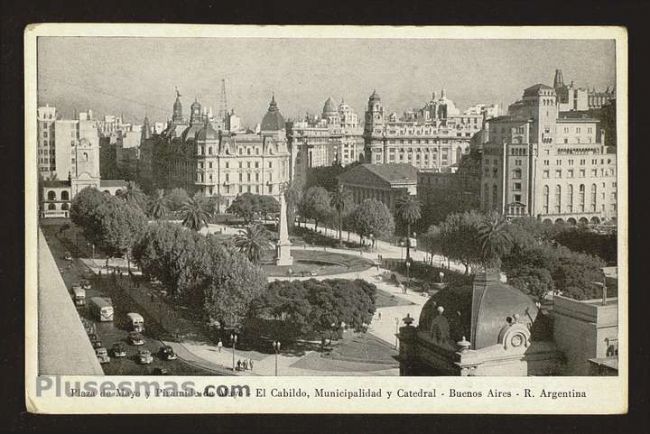
[[[625,413],[627,56],[29,26],[28,410]]]

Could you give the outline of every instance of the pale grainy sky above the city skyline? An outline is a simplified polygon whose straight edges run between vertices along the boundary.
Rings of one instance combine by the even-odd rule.
[[[444,88],[456,106],[508,104],[523,89],[565,83],[614,86],[613,40],[440,40],[307,38],[39,37],[38,103],[63,117],[92,109],[128,122],[171,117],[178,87],[183,110],[198,101],[228,108],[250,127],[275,94],[285,118],[319,114],[331,96],[362,118],[374,89],[385,110],[421,107]]]

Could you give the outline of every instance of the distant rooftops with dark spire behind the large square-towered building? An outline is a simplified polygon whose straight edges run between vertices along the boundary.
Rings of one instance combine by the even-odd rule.
[[[593,87],[577,87],[573,81],[569,85],[564,84],[561,69],[555,70],[553,88],[557,94],[560,111],[596,110],[616,100],[616,90],[609,87],[604,91],[597,91]]]

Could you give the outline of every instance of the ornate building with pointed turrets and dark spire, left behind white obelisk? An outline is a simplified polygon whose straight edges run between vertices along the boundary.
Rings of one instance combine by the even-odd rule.
[[[140,176],[152,176],[158,188],[182,187],[190,193],[216,196],[220,211],[225,211],[241,193],[281,194],[293,169],[285,120],[275,97],[262,119],[259,134],[239,134],[225,130],[224,124],[217,122],[211,122],[195,101],[186,123],[177,95],[165,132],[150,133],[143,140]],[[156,173],[169,182],[164,186],[156,182]]]

